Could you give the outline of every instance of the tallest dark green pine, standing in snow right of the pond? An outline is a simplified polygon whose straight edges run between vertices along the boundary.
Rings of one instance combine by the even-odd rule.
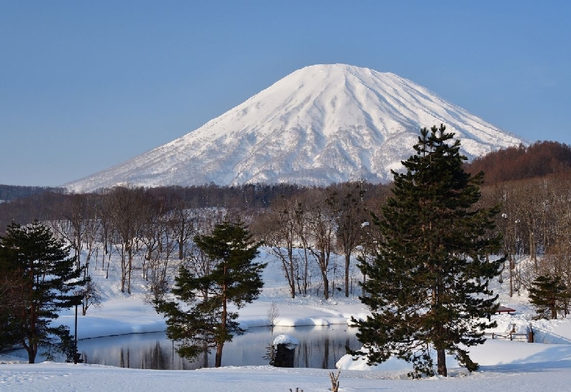
[[[361,301],[371,316],[354,320],[369,363],[390,356],[413,363],[411,376],[446,376],[446,353],[473,371],[470,347],[485,341],[483,330],[495,325],[486,316],[497,296],[488,288],[500,261],[487,255],[500,246],[490,236],[499,208],[478,209],[483,174],[463,169],[460,141],[445,126],[421,129],[416,154],[403,161],[405,173],[393,172],[393,196],[375,218],[380,253],[361,263],[368,276]]]

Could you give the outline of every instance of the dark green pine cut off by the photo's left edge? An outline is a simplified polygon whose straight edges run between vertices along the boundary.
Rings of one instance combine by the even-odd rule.
[[[74,347],[69,329],[51,326],[61,309],[79,301],[72,291],[84,284],[79,279],[81,269],[74,268],[74,258],[69,257],[69,247],[38,221],[29,226],[12,223],[6,236],[0,237],[0,271],[15,283],[0,290],[10,305],[0,316],[0,346],[24,347],[29,363],[34,363],[42,346],[71,358]]]

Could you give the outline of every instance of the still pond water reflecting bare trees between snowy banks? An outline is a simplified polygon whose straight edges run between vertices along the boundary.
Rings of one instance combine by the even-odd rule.
[[[276,336],[285,334],[296,338],[300,344],[293,353],[295,368],[335,368],[335,363],[345,355],[345,347],[356,350],[360,343],[355,337],[355,328],[347,326],[311,326],[274,328],[251,328],[241,336],[224,345],[222,366],[268,365],[268,348]],[[176,343],[175,343],[176,344]],[[212,367],[214,355],[202,356],[196,361],[181,358],[174,350],[173,342],[164,332],[134,333],[78,341],[78,351],[85,363],[119,366],[123,368],[146,368],[182,370]],[[25,357],[24,353],[18,353]],[[36,360],[36,362],[41,361]],[[59,358],[64,361],[64,358]]]

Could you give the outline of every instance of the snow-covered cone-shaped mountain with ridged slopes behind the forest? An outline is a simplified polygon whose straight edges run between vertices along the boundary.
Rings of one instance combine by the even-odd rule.
[[[390,73],[307,66],[195,131],[66,186],[390,181],[419,129],[445,124],[468,158],[522,139]]]

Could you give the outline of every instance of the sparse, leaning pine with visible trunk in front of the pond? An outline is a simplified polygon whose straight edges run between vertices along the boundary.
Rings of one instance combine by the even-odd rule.
[[[231,304],[242,308],[261,293],[261,273],[265,263],[255,261],[258,243],[241,221],[216,225],[211,235],[194,238],[211,265],[202,268],[181,266],[172,290],[178,300],[165,306],[166,333],[179,342],[178,353],[195,358],[205,350],[216,348],[215,366],[222,364],[224,343],[242,333]]]

